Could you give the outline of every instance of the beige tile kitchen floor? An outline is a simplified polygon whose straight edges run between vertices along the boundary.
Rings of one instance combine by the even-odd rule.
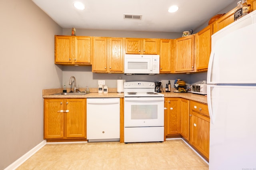
[[[46,144],[17,170],[208,170],[182,139]]]

